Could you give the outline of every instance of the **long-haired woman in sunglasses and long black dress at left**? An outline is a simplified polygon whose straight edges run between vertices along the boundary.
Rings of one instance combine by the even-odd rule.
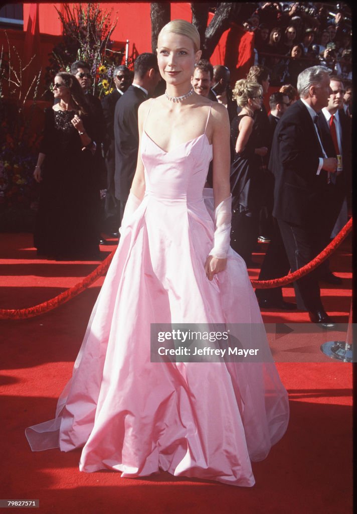
[[[73,75],[60,72],[45,109],[44,137],[33,176],[41,182],[34,230],[37,253],[57,260],[99,258],[96,209],[100,201],[93,166],[93,117]]]

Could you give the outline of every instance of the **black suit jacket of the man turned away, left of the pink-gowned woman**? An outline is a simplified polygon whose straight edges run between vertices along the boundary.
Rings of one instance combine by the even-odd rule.
[[[115,196],[126,201],[134,178],[139,150],[138,109],[146,100],[142,89],[129,86],[115,106]]]

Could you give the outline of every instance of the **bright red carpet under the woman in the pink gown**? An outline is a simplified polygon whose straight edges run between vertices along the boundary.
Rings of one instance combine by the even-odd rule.
[[[2,234],[1,240],[0,308],[50,299],[98,265],[37,260],[30,234]],[[351,299],[350,247],[348,239],[331,259],[342,286],[322,290],[326,309],[343,323],[348,322]],[[101,248],[104,258],[114,247]],[[261,258],[253,256],[257,263]],[[251,278],[257,274],[258,269],[250,270]],[[87,474],[78,470],[80,451],[32,453],[24,430],[54,415],[102,281],[48,314],[0,322],[0,499],[39,499],[40,509],[30,510],[43,514],[352,512],[351,365],[327,358],[278,364],[291,400],[290,425],[268,458],[253,464],[253,488],[176,479],[167,473],[145,480],[122,479],[107,471]],[[286,288],[284,295],[293,297],[293,289]],[[306,313],[263,315],[267,322],[308,321]]]

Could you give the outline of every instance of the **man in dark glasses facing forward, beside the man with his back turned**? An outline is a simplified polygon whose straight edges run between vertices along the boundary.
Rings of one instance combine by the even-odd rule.
[[[117,210],[115,198],[114,173],[115,173],[115,142],[114,142],[114,113],[117,101],[124,95],[131,84],[131,73],[124,65],[117,66],[113,72],[115,88],[109,95],[102,99],[104,120],[106,124],[106,136],[104,140],[104,155],[107,171],[106,195],[105,195],[105,224],[108,232],[118,236],[120,213]]]

